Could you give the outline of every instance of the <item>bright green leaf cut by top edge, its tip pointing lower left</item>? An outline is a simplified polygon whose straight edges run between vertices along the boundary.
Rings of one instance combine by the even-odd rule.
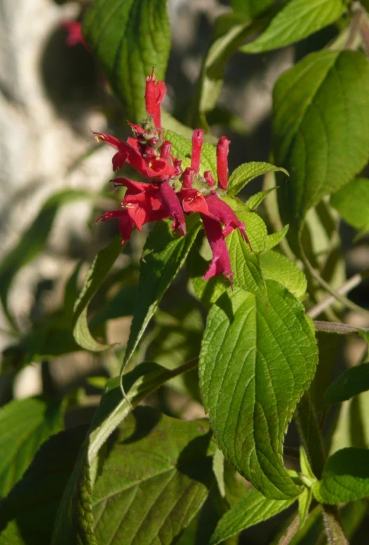
[[[247,43],[241,51],[262,53],[300,41],[339,19],[344,4],[343,0],[290,0],[276,13],[261,36]]]

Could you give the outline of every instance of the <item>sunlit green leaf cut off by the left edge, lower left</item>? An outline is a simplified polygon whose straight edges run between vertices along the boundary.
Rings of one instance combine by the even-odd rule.
[[[60,401],[30,397],[0,409],[0,498],[20,480],[39,446],[60,429]]]

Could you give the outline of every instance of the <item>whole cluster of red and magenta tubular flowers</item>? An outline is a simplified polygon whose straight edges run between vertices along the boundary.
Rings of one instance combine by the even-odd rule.
[[[225,237],[239,229],[248,244],[245,226],[232,208],[216,191],[212,172],[199,172],[203,130],[196,129],[192,137],[191,166],[182,169],[182,161],[171,153],[172,144],[164,139],[161,126],[161,102],[166,93],[163,81],[156,81],[154,73],[147,77],[145,102],[148,118],[140,125],[130,126],[133,137],[127,142],[110,134],[94,132],[116,149],[112,159],[114,172],[128,164],[148,182],[133,181],[124,177],[114,180],[115,186],[126,187],[121,209],[106,212],[96,221],[118,218],[122,243],[132,234],[133,228],[142,229],[145,223],[172,218],[172,228],[177,234],[186,234],[185,214],[199,212],[206,237],[213,252],[203,280],[223,274],[232,284],[232,267]],[[217,143],[217,186],[227,189],[229,140],[221,137]]]

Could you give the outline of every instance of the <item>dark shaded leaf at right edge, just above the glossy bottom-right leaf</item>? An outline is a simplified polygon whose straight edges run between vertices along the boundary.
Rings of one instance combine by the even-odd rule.
[[[326,389],[324,403],[340,403],[366,390],[369,390],[369,363],[351,367],[336,378]]]

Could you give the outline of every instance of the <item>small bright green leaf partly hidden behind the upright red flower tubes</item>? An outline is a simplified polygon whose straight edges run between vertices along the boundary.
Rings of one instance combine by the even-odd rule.
[[[180,136],[171,130],[165,130],[164,136],[169,142],[172,143],[171,152],[179,159],[182,159],[182,168],[189,167],[191,165],[191,153],[192,153],[192,141]],[[201,166],[200,172],[211,170],[213,175],[217,175],[217,152],[215,146],[208,142],[203,143],[201,149]]]

